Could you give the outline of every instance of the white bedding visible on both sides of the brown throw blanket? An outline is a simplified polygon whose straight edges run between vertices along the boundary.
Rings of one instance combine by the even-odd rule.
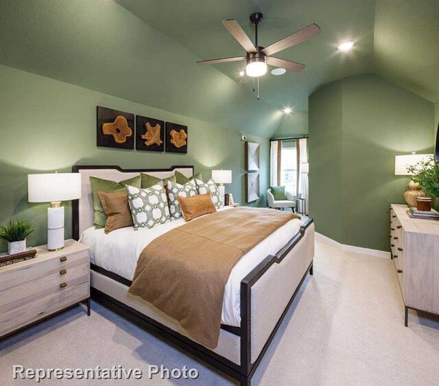
[[[219,210],[226,210],[224,208]],[[206,215],[206,216],[209,216]],[[197,219],[193,220],[196,221]],[[185,224],[185,220],[174,220],[157,225],[152,229],[134,231],[133,227],[126,227],[105,234],[104,229],[91,227],[86,229],[80,242],[90,248],[91,262],[112,273],[117,273],[127,280],[132,280],[136,270],[137,260],[145,248],[154,238],[167,231]],[[268,255],[274,255],[288,240],[300,230],[300,220],[290,220],[283,227],[274,231],[268,238],[260,242],[251,251],[246,253],[233,267],[226,288],[222,306],[222,323],[228,326],[241,324],[240,286],[241,280],[254,269]]]

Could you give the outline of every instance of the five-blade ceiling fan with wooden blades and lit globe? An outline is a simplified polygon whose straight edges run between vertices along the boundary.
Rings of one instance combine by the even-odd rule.
[[[235,19],[227,19],[222,21],[222,25],[227,28],[228,32],[233,35],[237,42],[246,50],[246,56],[235,56],[234,58],[220,58],[212,60],[200,60],[199,65],[216,65],[217,63],[238,62],[246,60],[246,76],[257,78],[263,76],[267,72],[267,65],[274,67],[283,67],[290,71],[302,71],[305,65],[292,62],[290,60],[274,58],[273,54],[282,51],[288,47],[292,47],[298,43],[307,41],[314,36],[320,34],[320,27],[317,24],[308,25],[298,32],[294,32],[286,38],[269,45],[261,47],[258,45],[258,25],[263,19],[261,12],[254,12],[250,15],[250,21],[254,24],[254,44],[242,29],[241,25]]]

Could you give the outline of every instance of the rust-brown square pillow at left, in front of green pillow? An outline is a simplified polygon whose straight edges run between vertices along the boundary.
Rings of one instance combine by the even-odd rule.
[[[97,194],[107,216],[105,222],[106,234],[119,228],[132,227],[132,215],[126,192],[97,192]]]

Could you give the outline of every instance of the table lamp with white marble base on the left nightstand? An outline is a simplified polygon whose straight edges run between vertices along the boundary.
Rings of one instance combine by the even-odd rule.
[[[28,174],[29,203],[50,203],[47,208],[47,249],[64,248],[64,207],[62,201],[81,198],[80,173]]]

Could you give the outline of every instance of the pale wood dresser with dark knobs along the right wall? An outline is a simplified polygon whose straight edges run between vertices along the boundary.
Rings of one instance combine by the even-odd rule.
[[[390,207],[390,250],[408,310],[439,314],[439,221],[410,218],[407,205]]]

